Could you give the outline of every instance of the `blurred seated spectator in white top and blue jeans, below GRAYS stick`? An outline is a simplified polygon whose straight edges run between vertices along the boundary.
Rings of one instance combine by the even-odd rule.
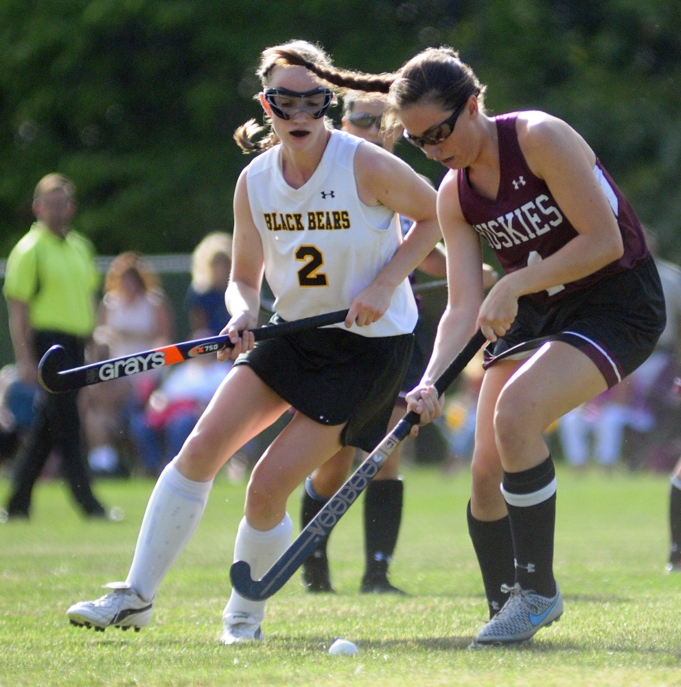
[[[206,336],[199,331],[192,338]],[[146,475],[158,477],[177,455],[230,368],[231,361],[221,363],[215,354],[189,359],[173,368],[146,407],[132,416],[130,437]]]

